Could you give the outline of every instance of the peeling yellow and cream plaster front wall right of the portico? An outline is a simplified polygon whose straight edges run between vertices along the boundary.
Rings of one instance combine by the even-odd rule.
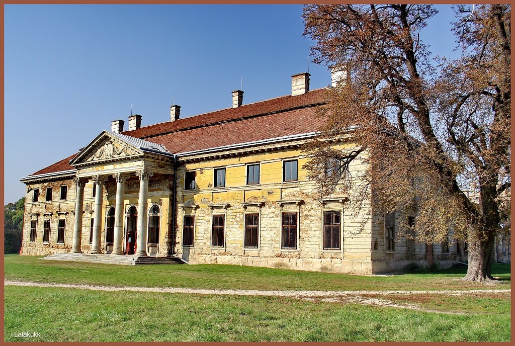
[[[298,181],[282,182],[284,160],[298,159]],[[307,158],[300,150],[284,150],[248,155],[241,158],[188,163],[177,172],[177,236],[175,249],[190,263],[228,263],[302,270],[371,273],[370,215],[365,228],[353,218],[353,211],[339,200],[322,205],[315,185],[306,179],[302,166]],[[247,185],[247,164],[261,163],[260,184]],[[213,187],[214,169],[226,167],[226,186]],[[358,167],[356,167],[358,168]],[[195,170],[196,189],[184,190],[186,171]],[[340,196],[334,196],[340,197]],[[282,204],[278,201],[303,200]],[[263,202],[261,207],[242,203]],[[229,203],[224,207],[211,204]],[[198,207],[192,208],[192,205]],[[323,250],[323,210],[342,211],[343,246],[341,250]],[[281,212],[299,213],[298,246],[281,249]],[[260,214],[259,248],[244,248],[244,214]],[[211,246],[212,215],[226,215],[225,245]],[[182,246],[184,215],[195,215],[194,246]]]

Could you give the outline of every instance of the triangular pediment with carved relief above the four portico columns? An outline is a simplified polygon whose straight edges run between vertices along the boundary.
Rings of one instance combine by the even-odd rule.
[[[140,148],[124,142],[107,131],[103,131],[70,161],[70,165],[112,162],[141,155],[143,155],[143,150]]]

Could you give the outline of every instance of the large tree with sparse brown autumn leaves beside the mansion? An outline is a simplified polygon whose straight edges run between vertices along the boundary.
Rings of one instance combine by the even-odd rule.
[[[456,7],[462,54],[449,61],[432,59],[420,37],[431,5],[304,6],[315,62],[345,66],[348,77],[319,109],[328,121],[307,148],[310,177],[323,195],[343,186],[351,202],[368,193],[385,212],[415,204],[419,241],[449,229],[468,241],[470,281],[492,278],[500,196],[511,186],[510,11]],[[332,139],[354,145],[335,150]],[[368,169],[353,172],[355,160]],[[339,174],[324,174],[334,162]]]

